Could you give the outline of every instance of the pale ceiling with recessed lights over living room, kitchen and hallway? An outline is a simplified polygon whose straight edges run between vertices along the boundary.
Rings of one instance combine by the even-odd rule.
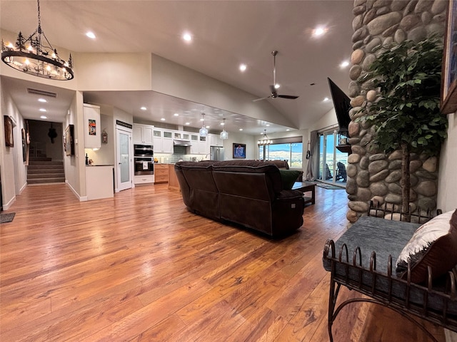
[[[253,94],[270,95],[273,56],[276,56],[278,93],[298,95],[296,100],[268,99],[291,122],[305,129],[330,110],[327,77],[347,89],[348,68],[339,64],[352,52],[353,1],[49,1],[41,0],[41,27],[53,44],[76,52],[151,52],[212,78]],[[36,1],[0,0],[0,28],[24,36],[37,26]],[[311,37],[317,26],[327,26],[321,38]],[[96,40],[85,36],[93,31]],[[184,43],[181,34],[194,36]],[[66,59],[67,56],[62,56]],[[248,69],[238,71],[240,63]],[[77,77],[77,75],[76,75]],[[24,118],[37,119],[36,95],[27,95],[25,81],[3,78]],[[59,85],[56,81],[56,86]],[[311,86],[311,83],[314,85]],[[34,87],[34,85],[31,85]],[[71,92],[54,91],[58,97],[47,103],[49,120],[61,122]],[[201,111],[214,129],[226,118],[226,130],[243,128],[244,133],[281,132],[285,127],[248,118],[247,113],[229,113],[204,103],[172,98],[153,92],[90,92],[84,100],[104,103],[132,113],[139,120],[159,121],[192,127],[201,125]],[[148,110],[140,110],[139,103]],[[55,107],[54,107],[55,105]],[[54,114],[55,113],[55,116]],[[178,117],[173,114],[179,113]],[[270,126],[266,126],[270,124]]]

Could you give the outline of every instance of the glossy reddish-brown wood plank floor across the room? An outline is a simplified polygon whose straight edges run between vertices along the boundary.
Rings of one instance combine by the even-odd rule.
[[[316,187],[303,227],[271,240],[187,212],[166,185],[90,202],[28,186],[0,227],[0,341],[328,341],[322,249],[346,229],[346,203]],[[427,341],[373,304],[346,306],[333,335]]]

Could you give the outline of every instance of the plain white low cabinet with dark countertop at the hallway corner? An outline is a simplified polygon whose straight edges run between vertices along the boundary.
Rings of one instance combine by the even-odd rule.
[[[114,197],[114,165],[86,165],[87,200]]]

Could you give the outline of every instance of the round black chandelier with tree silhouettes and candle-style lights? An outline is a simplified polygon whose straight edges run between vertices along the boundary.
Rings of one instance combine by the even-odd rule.
[[[30,75],[66,81],[74,78],[71,53],[69,61],[62,60],[57,50],[51,46],[48,38],[41,30],[40,1],[38,2],[38,28],[24,38],[19,32],[15,46],[13,43],[4,44],[1,40],[1,60],[11,68],[29,73]]]

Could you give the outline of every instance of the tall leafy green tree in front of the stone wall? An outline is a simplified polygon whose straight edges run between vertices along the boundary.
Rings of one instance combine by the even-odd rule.
[[[378,98],[361,108],[359,120],[374,126],[373,144],[379,150],[402,150],[402,207],[408,212],[411,152],[438,155],[447,138],[448,121],[439,108],[443,43],[428,38],[382,49],[358,80],[370,80],[378,88]]]

